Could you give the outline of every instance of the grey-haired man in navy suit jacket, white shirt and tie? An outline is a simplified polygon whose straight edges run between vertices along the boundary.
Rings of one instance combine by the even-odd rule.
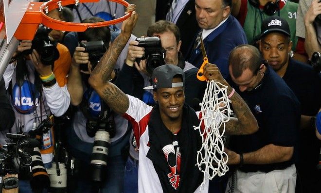
[[[232,0],[195,0],[196,21],[201,28],[188,49],[188,62],[197,68],[203,62],[199,39],[201,35],[209,63],[216,64],[224,78],[229,76],[230,51],[247,44],[245,32],[239,22],[230,15]]]

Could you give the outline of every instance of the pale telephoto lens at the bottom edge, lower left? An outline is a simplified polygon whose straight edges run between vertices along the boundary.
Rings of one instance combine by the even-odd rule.
[[[58,165],[58,167],[57,167]],[[67,169],[64,163],[53,162],[52,167],[47,169],[50,178],[50,193],[67,192]]]

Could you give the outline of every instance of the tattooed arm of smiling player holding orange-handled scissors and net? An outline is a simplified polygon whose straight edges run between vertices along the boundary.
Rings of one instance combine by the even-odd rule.
[[[228,95],[232,93],[232,87],[224,80],[218,67],[215,64],[206,64],[204,67],[204,76],[208,80],[217,80],[228,86]],[[229,135],[246,135],[256,132],[259,127],[257,121],[250,111],[250,108],[236,92],[230,98],[234,113],[237,118],[230,117],[230,121],[226,123],[226,134]]]

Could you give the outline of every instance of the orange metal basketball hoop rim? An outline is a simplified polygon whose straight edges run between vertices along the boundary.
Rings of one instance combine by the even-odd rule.
[[[114,25],[120,22],[125,21],[132,12],[128,12],[125,16],[110,20],[110,21],[103,21],[103,22],[97,22],[97,23],[74,23],[74,22],[67,22],[67,21],[60,21],[57,19],[54,19],[52,17],[49,17],[46,15],[45,11],[46,8],[48,8],[48,11],[54,10],[56,8],[59,8],[58,2],[61,2],[61,6],[66,6],[70,4],[75,4],[75,0],[49,0],[47,2],[44,2],[40,6],[40,12],[41,12],[41,23],[49,28],[60,30],[60,31],[67,31],[67,32],[84,32],[88,28],[99,28],[109,25]],[[99,0],[79,0],[78,3],[82,2],[97,2]],[[116,3],[120,3],[124,5],[125,7],[129,6],[129,3],[125,0],[109,0]]]

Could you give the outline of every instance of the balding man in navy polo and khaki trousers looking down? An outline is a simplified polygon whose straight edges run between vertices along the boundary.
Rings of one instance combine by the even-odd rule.
[[[239,163],[226,192],[294,193],[300,103],[285,81],[250,45],[234,48],[229,71],[235,91],[247,102],[259,130],[231,136],[229,162]]]

